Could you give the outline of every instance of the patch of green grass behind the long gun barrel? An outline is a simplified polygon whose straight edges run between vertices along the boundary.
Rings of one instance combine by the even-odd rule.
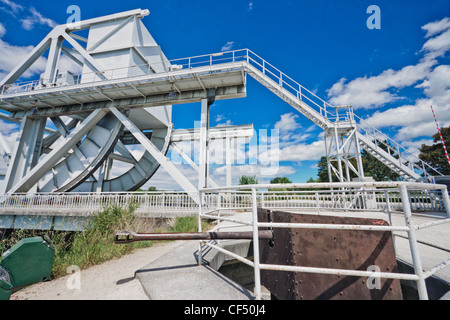
[[[198,231],[197,217],[177,218],[168,226],[163,227],[156,227],[155,223],[150,226],[142,226],[142,220],[133,214],[135,209],[133,206],[127,208],[107,207],[99,212],[82,232],[14,230],[2,239],[0,253],[23,238],[48,236],[55,245],[52,277],[58,278],[67,275],[67,268],[70,266],[86,269],[105,261],[120,258],[136,249],[151,247],[156,243],[155,241],[145,241],[118,245],[114,243],[114,235],[118,231],[145,230],[146,233]],[[204,222],[203,229],[208,228],[208,222]]]

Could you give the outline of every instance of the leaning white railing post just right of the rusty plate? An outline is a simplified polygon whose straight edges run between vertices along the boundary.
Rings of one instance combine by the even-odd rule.
[[[405,185],[400,186],[400,196],[402,198],[403,213],[405,214],[406,226],[409,228],[408,240],[409,240],[409,247],[411,249],[411,257],[414,265],[414,270],[416,275],[419,277],[419,280],[417,280],[417,291],[419,293],[419,299],[428,300],[427,286],[425,284],[425,275],[422,269],[422,262],[420,260],[414,223],[412,221],[411,204],[409,203],[408,189],[406,188]]]

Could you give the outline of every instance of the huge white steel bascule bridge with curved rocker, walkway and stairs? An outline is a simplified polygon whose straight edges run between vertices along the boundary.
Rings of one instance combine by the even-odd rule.
[[[0,193],[4,194],[0,228],[16,226],[17,217],[39,216],[42,220],[48,216],[53,223],[53,217],[70,217],[74,212],[89,215],[105,202],[122,203],[124,200],[115,199],[124,197],[136,199],[133,201],[140,204],[138,211],[142,214],[195,211],[200,202],[199,190],[217,187],[208,172],[209,141],[227,141],[229,187],[230,141],[253,134],[252,125],[209,125],[211,104],[245,97],[248,76],[324,130],[330,181],[332,173],[342,183],[350,182],[352,174],[358,181],[365,181],[362,150],[398,173],[403,181],[422,183],[442,176],[355,115],[351,106],[330,105],[249,49],[167,59],[141,22],[148,14],[148,10],[137,9],[85,20],[76,27],[57,26],[23,64],[0,82],[0,110],[4,112],[0,118],[20,123],[12,149],[0,136],[1,158],[7,165],[0,174]],[[88,38],[79,34],[82,30],[89,30]],[[47,66],[40,79],[20,82],[27,69],[47,51]],[[62,55],[78,64],[81,73],[61,70]],[[201,105],[200,128],[173,130],[172,106],[192,102]],[[48,121],[56,130],[47,127]],[[185,140],[200,141],[198,164],[177,147],[177,142]],[[144,147],[141,159],[133,156],[128,144]],[[166,157],[170,147],[197,170],[197,186]],[[131,166],[114,176],[112,167],[117,161]],[[160,167],[183,192],[129,193],[144,185]],[[431,184],[422,188],[421,194],[428,197],[423,205],[442,207],[442,197],[425,191],[432,189]],[[344,208],[353,208],[356,202],[346,197],[357,191],[339,192],[341,199],[346,199],[340,202],[345,203]],[[337,191],[332,194],[323,205],[337,205]],[[306,206],[310,202],[316,205],[320,199],[319,195],[314,200],[300,201],[297,196],[283,195]],[[172,199],[168,208],[154,211],[158,203],[166,206],[167,199]],[[261,201],[270,203],[265,196]]]

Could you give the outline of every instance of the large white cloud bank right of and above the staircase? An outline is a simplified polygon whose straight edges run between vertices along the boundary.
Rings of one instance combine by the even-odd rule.
[[[398,102],[404,99],[398,93],[402,88],[422,94],[415,101],[374,112],[366,119],[379,129],[395,129],[394,140],[415,154],[421,142],[428,141],[437,130],[430,106],[435,108],[442,127],[450,125],[450,66],[438,62],[450,51],[450,18],[428,23],[422,29],[427,40],[417,64],[351,81],[343,78],[328,91],[331,103],[353,105],[356,109]]]

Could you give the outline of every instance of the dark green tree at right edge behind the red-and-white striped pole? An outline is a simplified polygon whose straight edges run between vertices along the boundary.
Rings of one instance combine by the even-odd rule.
[[[442,138],[446,146],[450,146],[450,126],[448,128],[441,129]],[[434,144],[429,146],[423,144],[419,148],[419,158],[425,161],[431,167],[442,173],[443,175],[450,175],[450,165],[445,155],[444,146],[441,142],[441,136],[439,132],[433,135]],[[429,170],[431,175],[437,175],[436,172]]]

